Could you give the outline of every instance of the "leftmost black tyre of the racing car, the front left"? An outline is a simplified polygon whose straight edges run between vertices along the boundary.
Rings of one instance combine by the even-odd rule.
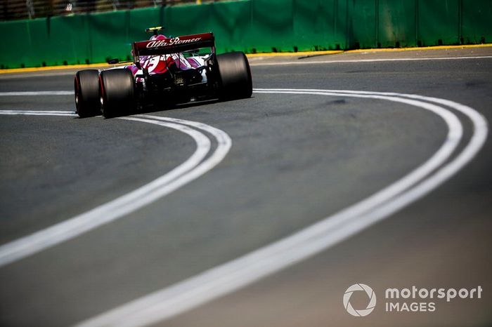
[[[75,108],[79,117],[101,114],[101,93],[99,92],[99,72],[85,69],[75,74]]]

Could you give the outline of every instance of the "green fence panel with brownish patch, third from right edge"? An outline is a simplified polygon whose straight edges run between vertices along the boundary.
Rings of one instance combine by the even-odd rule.
[[[415,0],[379,0],[377,48],[417,45]]]

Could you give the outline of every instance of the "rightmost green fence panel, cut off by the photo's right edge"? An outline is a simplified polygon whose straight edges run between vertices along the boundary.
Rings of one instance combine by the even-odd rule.
[[[492,42],[492,1],[462,1],[462,44]]]

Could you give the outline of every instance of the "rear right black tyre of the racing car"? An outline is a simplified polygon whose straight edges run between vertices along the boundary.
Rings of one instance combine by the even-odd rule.
[[[250,98],[253,92],[250,64],[242,52],[217,55],[221,87],[219,98],[225,100]]]

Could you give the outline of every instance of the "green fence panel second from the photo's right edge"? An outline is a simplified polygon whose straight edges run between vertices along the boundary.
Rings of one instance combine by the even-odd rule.
[[[460,43],[458,3],[459,0],[417,1],[417,43],[419,46]]]

